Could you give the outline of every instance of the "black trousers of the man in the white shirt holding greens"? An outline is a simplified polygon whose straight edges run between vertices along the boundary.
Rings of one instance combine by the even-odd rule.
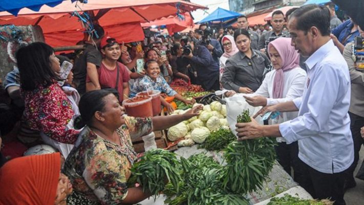
[[[308,166],[302,160],[301,170],[303,171],[302,183],[300,184],[313,198],[326,199],[329,198],[334,205],[345,205],[344,200],[344,181],[346,171],[326,174],[319,172]]]

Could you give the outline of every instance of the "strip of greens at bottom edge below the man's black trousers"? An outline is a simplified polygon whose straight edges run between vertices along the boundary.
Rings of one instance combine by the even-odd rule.
[[[283,197],[274,197],[270,199],[267,205],[332,205],[333,201],[328,199],[315,200],[315,199],[300,199],[293,197],[289,194],[285,194]]]

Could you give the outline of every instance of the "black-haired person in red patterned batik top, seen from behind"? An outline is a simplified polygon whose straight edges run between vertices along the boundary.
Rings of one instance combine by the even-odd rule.
[[[52,47],[36,42],[16,53],[20,89],[25,98],[24,119],[42,139],[67,157],[78,130],[73,128],[74,110],[67,95],[58,85],[59,59]]]

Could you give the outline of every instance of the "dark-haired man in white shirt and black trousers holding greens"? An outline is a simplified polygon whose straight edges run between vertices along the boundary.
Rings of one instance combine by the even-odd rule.
[[[306,5],[289,19],[292,46],[309,56],[302,97],[262,109],[298,111],[298,117],[280,125],[261,126],[255,120],[237,124],[240,139],[273,136],[287,143],[298,140],[305,170],[301,186],[314,198],[345,204],[345,171],[354,159],[350,132],[350,75],[348,66],[330,39],[330,13],[324,6]]]

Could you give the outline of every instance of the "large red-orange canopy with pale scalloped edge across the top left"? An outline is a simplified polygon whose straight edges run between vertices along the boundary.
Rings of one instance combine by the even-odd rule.
[[[77,5],[76,5],[77,4]],[[42,6],[38,12],[24,8],[18,16],[0,12],[0,24],[39,25],[46,42],[53,47],[75,45],[83,39],[84,30],[73,11],[91,11],[93,19],[103,26],[108,35],[120,42],[134,42],[144,39],[140,22],[154,20],[177,12],[206,9],[206,7],[182,0],[89,0],[87,4],[63,1],[56,7]]]

